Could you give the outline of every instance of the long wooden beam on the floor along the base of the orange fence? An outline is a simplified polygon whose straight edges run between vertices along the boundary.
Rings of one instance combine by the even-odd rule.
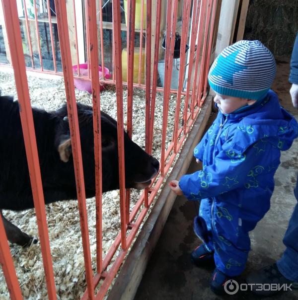
[[[208,96],[203,105],[185,144],[181,150],[170,176],[151,210],[151,213],[142,227],[131,252],[129,253],[114,286],[108,296],[108,300],[133,300],[142,276],[146,270],[149,258],[158,241],[166,219],[176,199],[176,194],[171,192],[168,183],[180,178],[187,171],[193,156],[193,149],[203,136],[212,108],[212,97]]]

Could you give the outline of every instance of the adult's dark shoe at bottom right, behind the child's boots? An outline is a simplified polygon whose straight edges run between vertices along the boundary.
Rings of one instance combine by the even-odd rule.
[[[250,273],[246,278],[246,282],[248,284],[280,284],[280,285],[283,284],[290,285],[291,283],[293,283],[292,281],[288,280],[286,277],[283,276],[283,274],[279,271],[276,263],[267,266],[259,271]],[[291,286],[291,289],[294,289],[294,287]],[[266,288],[266,290],[269,289]],[[272,290],[278,290],[278,289],[272,289]],[[284,290],[282,289],[281,291],[263,291],[263,289],[261,289],[260,286],[252,285],[251,291],[256,295],[268,297],[280,293]]]

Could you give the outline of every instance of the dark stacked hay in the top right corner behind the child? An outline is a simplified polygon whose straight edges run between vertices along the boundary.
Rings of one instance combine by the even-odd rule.
[[[291,55],[297,31],[298,1],[250,1],[244,39],[261,41],[274,55]]]

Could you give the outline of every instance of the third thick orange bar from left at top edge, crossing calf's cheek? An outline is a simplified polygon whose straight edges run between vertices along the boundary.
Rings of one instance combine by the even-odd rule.
[[[95,203],[96,203],[96,264],[97,273],[102,272],[102,160],[101,160],[101,115],[98,74],[98,40],[96,7],[94,1],[87,1],[88,40],[90,42],[90,65],[93,100],[93,132],[95,158]]]

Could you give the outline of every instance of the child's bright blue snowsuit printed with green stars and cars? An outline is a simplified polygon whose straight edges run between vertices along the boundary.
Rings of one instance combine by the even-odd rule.
[[[223,115],[194,149],[203,170],[184,175],[179,187],[189,200],[201,200],[194,229],[217,268],[237,276],[245,268],[254,229],[270,208],[280,151],[298,137],[297,121],[269,90],[248,110]]]

